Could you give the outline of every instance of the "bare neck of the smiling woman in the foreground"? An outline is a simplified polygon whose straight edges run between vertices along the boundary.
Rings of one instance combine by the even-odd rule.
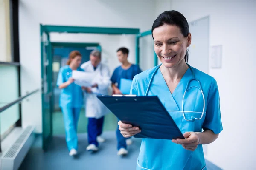
[[[189,66],[186,64],[185,60],[183,60],[172,68],[166,68],[164,65],[161,65],[160,71],[162,72],[163,77],[168,78],[169,81],[177,82],[180,81],[188,68]]]

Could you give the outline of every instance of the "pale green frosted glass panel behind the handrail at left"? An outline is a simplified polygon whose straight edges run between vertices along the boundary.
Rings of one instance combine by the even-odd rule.
[[[0,65],[0,107],[19,98],[18,68]],[[20,119],[18,103],[0,113],[1,135]]]

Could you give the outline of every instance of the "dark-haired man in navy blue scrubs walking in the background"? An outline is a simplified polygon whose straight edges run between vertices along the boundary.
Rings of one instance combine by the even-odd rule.
[[[121,78],[132,80],[136,74],[141,72],[138,65],[131,64],[128,62],[129,50],[125,47],[119,48],[117,51],[117,57],[119,62],[122,63],[121,66],[117,67],[111,77],[113,94],[122,94],[120,91],[120,80]],[[117,154],[124,156],[128,154],[127,145],[132,143],[130,138],[124,138],[120,133],[120,130],[116,129],[116,138],[117,138]]]

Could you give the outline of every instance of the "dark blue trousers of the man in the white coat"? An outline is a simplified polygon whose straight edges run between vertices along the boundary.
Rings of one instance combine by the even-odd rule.
[[[97,136],[100,136],[102,134],[103,122],[104,116],[99,119],[88,118],[87,132],[89,144],[95,144],[96,147],[99,146],[99,143],[97,142]]]

